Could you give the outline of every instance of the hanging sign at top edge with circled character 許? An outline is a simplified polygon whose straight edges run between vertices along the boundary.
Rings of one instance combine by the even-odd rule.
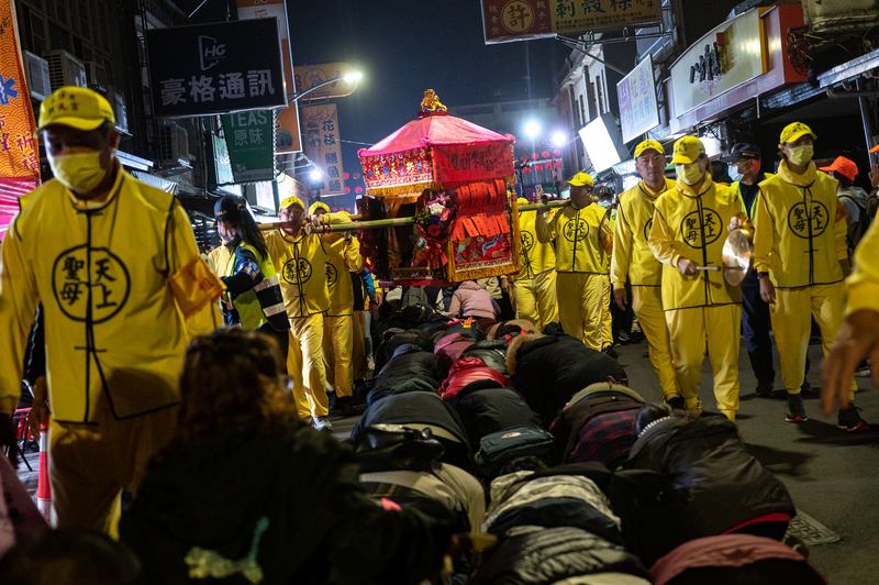
[[[661,0],[482,0],[486,44],[577,36],[661,20]]]

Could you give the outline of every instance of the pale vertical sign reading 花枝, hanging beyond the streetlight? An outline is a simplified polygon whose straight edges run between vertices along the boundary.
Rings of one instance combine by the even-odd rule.
[[[305,106],[302,108],[302,123],[305,128],[305,153],[323,172],[323,178],[318,181],[323,181],[323,186],[319,185],[321,196],[344,195],[336,104]]]

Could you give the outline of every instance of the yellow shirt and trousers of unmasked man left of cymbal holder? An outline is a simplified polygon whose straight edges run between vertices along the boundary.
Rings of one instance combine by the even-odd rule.
[[[623,288],[626,278],[632,287],[632,309],[647,338],[650,364],[659,378],[665,400],[680,395],[680,391],[663,311],[663,265],[653,255],[647,239],[653,225],[656,198],[674,188],[675,181],[671,179],[665,179],[665,189],[659,191],[650,190],[641,181],[620,196],[611,261],[613,288]]]

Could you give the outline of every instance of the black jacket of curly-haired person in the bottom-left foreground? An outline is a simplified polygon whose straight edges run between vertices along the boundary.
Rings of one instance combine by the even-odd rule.
[[[454,517],[426,500],[386,511],[358,473],[347,446],[300,423],[211,437],[152,470],[120,538],[148,583],[252,583],[242,570],[263,585],[419,583],[439,563]],[[237,566],[221,571],[223,560]],[[190,580],[193,565],[222,578]]]

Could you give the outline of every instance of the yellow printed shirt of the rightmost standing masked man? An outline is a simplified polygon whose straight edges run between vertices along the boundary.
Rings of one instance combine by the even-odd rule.
[[[848,258],[845,208],[837,181],[814,163],[795,175],[781,162],[778,174],[760,183],[754,214],[754,267],[768,272],[779,288],[827,285],[843,279]]]

